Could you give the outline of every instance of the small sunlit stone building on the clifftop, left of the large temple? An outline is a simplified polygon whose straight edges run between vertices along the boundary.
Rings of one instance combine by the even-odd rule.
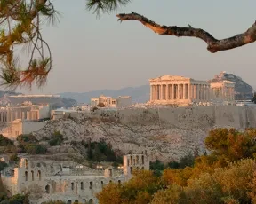
[[[116,108],[122,108],[122,107],[129,107],[132,106],[132,98],[129,96],[123,96],[123,97],[106,97],[104,95],[100,95],[99,98],[91,98],[91,106],[98,106],[103,105],[106,107],[116,107]]]

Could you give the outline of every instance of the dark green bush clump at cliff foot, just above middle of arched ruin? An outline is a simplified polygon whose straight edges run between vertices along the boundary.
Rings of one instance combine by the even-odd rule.
[[[122,158],[116,156],[110,143],[106,143],[104,140],[100,142],[82,142],[82,145],[86,148],[87,160],[89,161],[116,161],[117,163],[122,163]]]

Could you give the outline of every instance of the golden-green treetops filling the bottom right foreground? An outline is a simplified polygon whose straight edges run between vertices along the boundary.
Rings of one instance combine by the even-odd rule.
[[[191,167],[140,170],[124,184],[108,184],[100,204],[256,203],[256,129],[214,129],[205,139],[212,153]]]

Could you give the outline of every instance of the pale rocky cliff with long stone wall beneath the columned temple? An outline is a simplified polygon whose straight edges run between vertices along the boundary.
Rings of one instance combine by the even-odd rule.
[[[152,160],[172,161],[193,153],[196,146],[204,153],[204,138],[216,127],[256,127],[256,109],[195,106],[98,111],[92,115],[81,114],[79,119],[51,121],[34,134],[45,138],[60,130],[68,141],[105,138],[123,153],[147,150]]]

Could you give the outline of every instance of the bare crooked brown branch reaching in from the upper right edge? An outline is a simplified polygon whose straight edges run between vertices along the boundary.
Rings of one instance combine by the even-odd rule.
[[[144,26],[153,30],[158,35],[174,35],[177,37],[188,36],[196,37],[207,43],[207,50],[215,53],[218,51],[227,51],[237,47],[241,47],[248,43],[256,41],[256,22],[253,23],[252,27],[246,30],[244,33],[235,35],[226,39],[217,40],[211,34],[200,28],[188,27],[176,27],[176,26],[161,26],[152,20],[136,13],[120,13],[117,14],[118,20],[138,20]]]

